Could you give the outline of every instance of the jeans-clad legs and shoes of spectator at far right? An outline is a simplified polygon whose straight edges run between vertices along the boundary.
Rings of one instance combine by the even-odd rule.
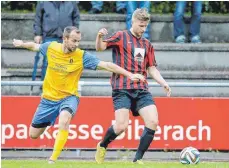
[[[184,13],[188,1],[176,2],[174,13],[174,38],[176,43],[185,43],[187,41],[184,34]],[[192,18],[189,29],[189,37],[192,43],[201,43],[200,40],[200,19],[202,11],[202,1],[192,2]]]

